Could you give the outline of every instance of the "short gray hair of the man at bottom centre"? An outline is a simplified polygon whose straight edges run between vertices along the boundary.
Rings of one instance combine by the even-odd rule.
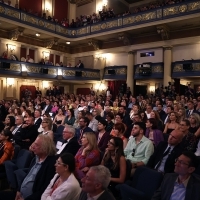
[[[103,165],[98,165],[90,167],[90,170],[95,172],[95,181],[101,183],[102,189],[107,189],[111,178],[109,169]]]

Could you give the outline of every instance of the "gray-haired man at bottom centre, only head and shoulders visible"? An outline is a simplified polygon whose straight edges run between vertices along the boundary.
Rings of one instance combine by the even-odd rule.
[[[111,174],[103,165],[90,167],[86,176],[81,180],[82,192],[79,200],[114,200],[113,195],[107,191]]]

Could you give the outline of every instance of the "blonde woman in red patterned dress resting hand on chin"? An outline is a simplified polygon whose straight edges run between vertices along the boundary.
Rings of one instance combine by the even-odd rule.
[[[92,132],[83,133],[82,147],[75,155],[75,176],[80,181],[85,177],[89,167],[100,164],[100,151],[97,145],[96,135]]]

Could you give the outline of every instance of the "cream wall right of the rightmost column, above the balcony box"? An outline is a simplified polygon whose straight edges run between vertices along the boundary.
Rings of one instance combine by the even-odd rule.
[[[175,46],[172,48],[173,62],[200,59],[200,44]]]

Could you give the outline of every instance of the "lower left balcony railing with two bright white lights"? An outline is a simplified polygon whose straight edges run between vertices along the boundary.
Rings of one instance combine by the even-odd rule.
[[[63,80],[100,80],[100,70],[40,65],[0,59],[0,75]]]

